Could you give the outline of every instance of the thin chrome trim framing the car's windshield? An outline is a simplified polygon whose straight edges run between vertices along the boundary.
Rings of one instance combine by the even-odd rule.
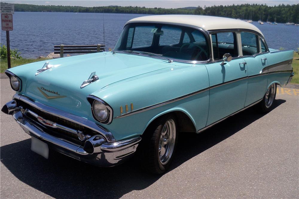
[[[123,29],[126,27],[126,25],[128,24],[138,24],[138,23],[148,23],[148,24],[166,24],[166,25],[177,25],[177,26],[182,26],[182,27],[189,27],[189,28],[194,28],[196,30],[199,30],[201,31],[206,40],[207,40],[207,45],[208,45],[208,50],[209,50],[209,54],[210,54],[210,58],[208,60],[205,60],[205,61],[190,61],[190,60],[181,60],[181,59],[173,59],[171,58],[171,60],[175,61],[175,62],[180,62],[180,63],[187,63],[187,64],[205,64],[205,63],[208,63],[209,61],[212,60],[212,48],[211,46],[209,45],[210,43],[210,36],[209,36],[209,33],[208,31],[205,31],[203,30],[202,28],[200,27],[197,27],[197,26],[192,26],[192,25],[187,25],[187,24],[181,24],[181,23],[170,23],[170,22],[161,22],[161,21],[128,21]],[[118,51],[118,52],[121,52],[121,51]],[[134,54],[134,55],[137,55],[137,54]],[[149,56],[149,55],[140,55],[140,56],[145,56],[145,57],[151,57],[153,58],[153,56]],[[158,59],[162,59],[162,58],[159,58],[157,57]]]

